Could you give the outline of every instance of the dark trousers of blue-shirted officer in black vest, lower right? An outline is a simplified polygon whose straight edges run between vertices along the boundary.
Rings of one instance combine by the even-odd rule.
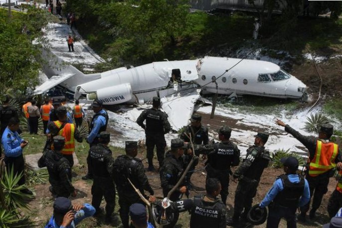
[[[278,228],[281,218],[286,219],[287,228],[297,228],[296,210],[297,208],[283,208],[279,206],[269,208],[266,228]]]

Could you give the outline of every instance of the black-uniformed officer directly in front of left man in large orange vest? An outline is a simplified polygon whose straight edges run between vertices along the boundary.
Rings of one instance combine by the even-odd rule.
[[[76,197],[77,192],[71,184],[69,177],[70,165],[62,155],[62,149],[65,139],[62,136],[53,137],[53,150],[47,150],[38,160],[38,167],[47,167],[49,173],[49,182],[51,184],[50,192],[57,197]]]

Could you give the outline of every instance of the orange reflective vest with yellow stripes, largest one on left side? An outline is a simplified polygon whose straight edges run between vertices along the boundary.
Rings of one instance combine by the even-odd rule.
[[[60,128],[63,122],[56,120],[53,123]],[[75,151],[75,125],[67,123],[64,127],[58,132],[58,135],[63,136],[65,138],[65,145],[62,150],[62,154],[73,154]]]

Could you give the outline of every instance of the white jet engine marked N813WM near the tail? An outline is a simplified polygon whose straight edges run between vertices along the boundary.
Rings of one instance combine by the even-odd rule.
[[[113,105],[128,102],[132,99],[133,92],[130,83],[114,85],[98,89],[95,93],[88,93],[87,100],[99,99],[104,105]]]

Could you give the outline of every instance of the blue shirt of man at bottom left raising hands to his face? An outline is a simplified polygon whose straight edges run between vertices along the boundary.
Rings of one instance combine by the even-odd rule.
[[[79,210],[75,214],[75,219],[71,222],[71,225],[68,227],[58,226],[55,222],[54,217],[52,216],[49,222],[46,224],[45,228],[75,228],[77,224],[79,224],[85,218],[91,217],[95,214],[96,210],[90,204],[84,204],[84,209]]]

